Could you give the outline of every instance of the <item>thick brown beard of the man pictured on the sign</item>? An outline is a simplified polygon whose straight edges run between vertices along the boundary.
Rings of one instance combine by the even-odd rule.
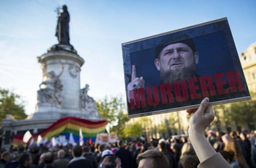
[[[171,83],[175,81],[187,81],[187,79],[194,78],[197,73],[195,63],[189,67],[177,70],[163,70],[160,66],[160,77],[163,83]]]

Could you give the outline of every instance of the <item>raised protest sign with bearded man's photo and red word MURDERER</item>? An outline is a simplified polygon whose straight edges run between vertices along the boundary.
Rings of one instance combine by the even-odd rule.
[[[122,44],[128,118],[251,99],[227,18]]]

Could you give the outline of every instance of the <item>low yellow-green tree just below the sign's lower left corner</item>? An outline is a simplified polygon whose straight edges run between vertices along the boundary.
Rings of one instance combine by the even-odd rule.
[[[131,137],[131,136],[141,136],[143,133],[142,125],[139,121],[136,121],[130,125],[127,125],[124,128],[124,135],[125,137]]]

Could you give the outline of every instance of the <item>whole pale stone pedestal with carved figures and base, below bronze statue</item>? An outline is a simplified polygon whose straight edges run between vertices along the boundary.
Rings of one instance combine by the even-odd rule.
[[[80,68],[84,60],[73,46],[53,45],[37,58],[43,70],[43,82],[37,91],[35,113],[25,120],[2,120],[2,147],[6,149],[14,135],[24,135],[27,130],[35,134],[64,117],[102,120],[95,101],[87,95],[89,85],[80,89]]]

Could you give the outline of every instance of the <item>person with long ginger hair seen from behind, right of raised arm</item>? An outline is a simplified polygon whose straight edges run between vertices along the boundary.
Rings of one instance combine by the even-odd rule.
[[[243,156],[243,152],[238,144],[238,142],[234,139],[228,141],[227,145],[225,145],[224,150],[227,152],[234,153],[234,159],[238,161],[239,166],[241,168],[249,168],[246,160]]]

